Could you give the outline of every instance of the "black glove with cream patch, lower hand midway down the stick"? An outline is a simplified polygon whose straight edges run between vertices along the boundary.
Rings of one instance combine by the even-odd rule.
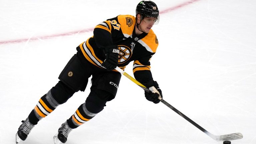
[[[163,98],[162,91],[158,86],[156,81],[149,81],[145,84],[146,87],[149,88],[151,91],[150,93],[145,91],[145,97],[147,100],[152,101],[153,103],[157,104],[160,102],[159,96]]]

